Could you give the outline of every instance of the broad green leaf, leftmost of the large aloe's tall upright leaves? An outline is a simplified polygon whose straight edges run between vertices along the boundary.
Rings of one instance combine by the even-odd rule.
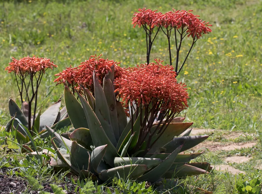
[[[68,116],[74,128],[88,128],[88,122],[84,114],[84,109],[67,86],[64,89],[64,99]]]

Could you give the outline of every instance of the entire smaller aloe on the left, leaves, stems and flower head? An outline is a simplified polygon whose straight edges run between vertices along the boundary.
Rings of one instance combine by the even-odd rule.
[[[36,113],[38,89],[43,74],[47,69],[53,69],[54,67],[57,66],[50,59],[35,56],[28,56],[19,60],[13,58],[9,66],[6,67],[8,73],[13,72],[15,75],[22,104],[20,109],[13,99],[9,99],[9,112],[12,118],[6,126],[6,131],[17,129],[16,136],[19,143],[27,143],[29,137],[22,130],[21,126],[19,126],[15,118],[28,128],[31,135],[34,135],[34,132],[39,135],[43,134],[45,132],[45,125],[58,128],[70,124],[66,108],[63,107],[60,110],[61,99],[49,107],[43,114],[41,114],[42,108],[40,108],[39,113]],[[34,108],[32,107],[33,101],[35,101]],[[59,125],[55,125],[58,121],[60,121]]]

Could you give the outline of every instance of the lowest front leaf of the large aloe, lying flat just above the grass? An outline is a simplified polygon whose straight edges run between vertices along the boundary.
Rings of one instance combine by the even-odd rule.
[[[119,167],[101,171],[99,173],[99,178],[103,181],[109,181],[109,182],[111,182],[115,176],[123,178],[124,180],[128,178],[130,180],[136,180],[146,170],[147,170],[147,166],[141,164],[119,166]]]

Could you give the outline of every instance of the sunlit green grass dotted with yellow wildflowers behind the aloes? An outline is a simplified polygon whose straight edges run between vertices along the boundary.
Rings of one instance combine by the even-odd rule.
[[[47,107],[63,95],[62,86],[53,83],[54,74],[70,65],[78,66],[90,55],[103,54],[104,58],[121,62],[122,67],[146,62],[144,31],[131,25],[133,12],[143,7],[161,12],[173,7],[192,9],[201,19],[213,24],[213,32],[196,42],[178,77],[189,89],[187,121],[194,122],[197,128],[242,131],[247,135],[258,133],[259,145],[240,151],[240,155],[254,156],[251,162],[233,166],[246,170],[248,177],[260,177],[261,171],[253,168],[262,159],[260,0],[3,1],[0,6],[0,125],[6,125],[10,119],[8,98],[11,96],[19,103],[14,75],[4,71],[12,56],[18,59],[37,55],[50,58],[58,65],[57,69],[46,72],[40,88],[38,103]],[[174,46],[174,38],[171,41]],[[180,59],[186,56],[188,43],[184,43]],[[151,53],[152,61],[160,58],[169,63],[164,34],[158,35]],[[175,51],[172,55],[174,61]],[[221,134],[213,140],[228,141]],[[219,164],[221,158],[237,152],[207,153],[202,160]],[[199,186],[216,193],[230,193],[235,185],[234,177],[223,173],[189,181],[199,181]]]

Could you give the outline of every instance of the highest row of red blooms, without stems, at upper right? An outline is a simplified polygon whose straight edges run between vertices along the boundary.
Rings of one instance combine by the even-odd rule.
[[[193,38],[200,38],[202,34],[207,34],[212,32],[208,26],[212,26],[209,22],[199,20],[199,15],[194,15],[191,13],[193,10],[174,10],[169,11],[165,14],[161,12],[156,13],[157,10],[150,9],[138,9],[138,13],[134,13],[132,18],[132,24],[135,27],[141,27],[141,25],[148,25],[151,28],[155,26],[167,27],[176,27],[177,29],[186,28],[187,36],[192,36]]]

